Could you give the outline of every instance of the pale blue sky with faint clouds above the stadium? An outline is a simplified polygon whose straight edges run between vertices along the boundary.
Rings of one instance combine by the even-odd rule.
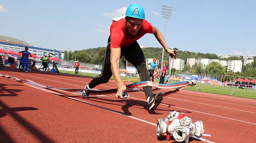
[[[0,35],[56,50],[106,47],[111,19],[132,3],[141,4],[163,35],[162,7],[172,6],[165,37],[170,48],[256,55],[255,0],[0,0]],[[161,47],[153,34],[138,42]]]

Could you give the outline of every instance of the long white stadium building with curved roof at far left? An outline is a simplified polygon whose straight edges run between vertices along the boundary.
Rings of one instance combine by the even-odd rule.
[[[27,42],[16,38],[0,36],[0,48],[7,52],[13,50],[15,53],[18,53],[25,50],[25,47],[28,47],[28,52],[35,54],[37,57],[43,57],[43,54],[47,54],[49,57],[57,57],[60,59],[59,50],[34,47]]]

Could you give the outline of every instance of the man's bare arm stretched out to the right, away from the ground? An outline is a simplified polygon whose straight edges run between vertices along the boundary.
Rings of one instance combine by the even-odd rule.
[[[153,26],[153,25],[152,25]],[[154,34],[154,36],[156,37],[156,39],[158,40],[158,42],[163,46],[163,48],[165,49],[165,51],[171,55],[175,55],[174,50],[172,49],[168,49],[168,46],[165,42],[165,39],[163,38],[162,33],[153,26],[153,30],[152,30],[152,34]],[[168,49],[168,50],[167,50]]]

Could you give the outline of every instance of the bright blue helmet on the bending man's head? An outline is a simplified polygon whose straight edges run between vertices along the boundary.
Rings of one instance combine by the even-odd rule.
[[[144,9],[139,4],[131,4],[127,7],[125,16],[145,19]]]

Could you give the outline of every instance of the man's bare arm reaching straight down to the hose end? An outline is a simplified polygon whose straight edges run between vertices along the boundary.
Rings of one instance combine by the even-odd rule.
[[[121,56],[121,48],[110,48],[110,63],[111,63],[111,71],[115,78],[115,82],[117,83],[117,94],[115,95],[117,98],[122,97],[122,92],[126,90],[126,86],[121,79],[120,70],[119,70],[119,60]]]

